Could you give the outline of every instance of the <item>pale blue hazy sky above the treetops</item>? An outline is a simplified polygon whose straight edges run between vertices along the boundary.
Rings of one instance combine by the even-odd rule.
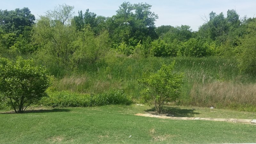
[[[126,0],[131,4],[147,3],[152,5],[151,12],[158,15],[155,22],[156,27],[161,25],[181,26],[189,25],[192,30],[197,31],[204,24],[202,17],[208,17],[210,12],[227,15],[228,9],[235,9],[243,18],[245,15],[256,17],[256,0]],[[28,7],[36,18],[45,15],[48,10],[54,10],[58,4],[66,3],[74,6],[75,15],[86,9],[97,15],[111,17],[116,14],[119,5],[124,0],[0,0],[0,9],[14,10],[16,8]]]

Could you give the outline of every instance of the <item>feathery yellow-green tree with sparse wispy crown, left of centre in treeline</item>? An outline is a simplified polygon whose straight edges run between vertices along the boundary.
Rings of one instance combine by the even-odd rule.
[[[61,13],[63,12],[63,13]],[[44,64],[56,63],[67,67],[75,51],[76,27],[70,22],[72,7],[59,5],[54,11],[48,11],[33,27],[33,40],[37,45],[37,57]]]

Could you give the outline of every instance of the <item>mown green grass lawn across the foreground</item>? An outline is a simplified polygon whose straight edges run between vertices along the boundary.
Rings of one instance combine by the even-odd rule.
[[[148,106],[47,108],[0,114],[0,143],[252,143],[256,125],[143,116]],[[172,110],[172,113],[171,113]],[[255,119],[255,113],[165,107],[175,116]],[[253,118],[254,116],[254,118]]]

